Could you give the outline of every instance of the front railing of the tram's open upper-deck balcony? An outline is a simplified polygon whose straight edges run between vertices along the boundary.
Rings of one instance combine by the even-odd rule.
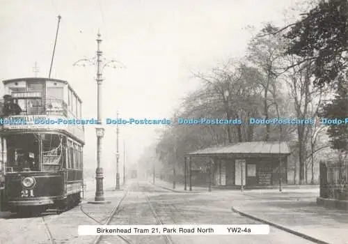
[[[46,98],[46,99],[21,99],[16,98],[15,103],[22,109],[20,114],[4,114],[4,102],[0,100],[1,116],[15,115],[60,115],[68,116],[68,105],[61,99]]]

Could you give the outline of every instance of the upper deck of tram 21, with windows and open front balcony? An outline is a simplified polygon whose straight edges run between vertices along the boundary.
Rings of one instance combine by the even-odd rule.
[[[26,121],[26,125],[3,123],[0,128],[1,134],[23,130],[60,130],[84,143],[84,125],[34,123],[35,120],[81,119],[81,99],[68,82],[35,77],[6,79],[3,80],[3,86],[5,96],[4,100],[0,101],[1,117]],[[12,107],[5,105],[8,100],[12,102]]]

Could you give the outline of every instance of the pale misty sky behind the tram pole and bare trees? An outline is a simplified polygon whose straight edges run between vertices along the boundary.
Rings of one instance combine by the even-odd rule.
[[[83,100],[83,117],[96,118],[96,68],[72,66],[95,56],[97,31],[106,59],[123,68],[105,68],[102,88],[104,118],[163,119],[199,82],[190,70],[205,72],[230,58],[244,56],[251,38],[248,25],[284,26],[290,0],[32,0],[3,1],[0,8],[0,79],[48,77],[56,34],[61,25],[52,78],[65,79]],[[115,125],[105,125],[103,167],[115,164]],[[127,161],[136,162],[157,135],[158,125],[120,126]],[[86,126],[84,158],[95,168],[95,129]],[[122,159],[121,159],[122,162]]]

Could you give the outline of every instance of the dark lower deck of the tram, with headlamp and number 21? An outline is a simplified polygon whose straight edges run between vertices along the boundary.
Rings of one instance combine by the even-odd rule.
[[[81,201],[82,146],[53,132],[6,135],[1,210],[64,211]]]

